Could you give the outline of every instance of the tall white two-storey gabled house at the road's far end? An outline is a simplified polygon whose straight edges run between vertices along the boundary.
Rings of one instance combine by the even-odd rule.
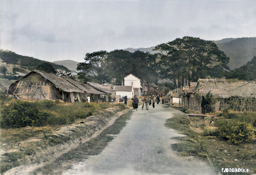
[[[124,86],[133,86],[134,95],[141,96],[142,82],[132,74],[124,77]]]

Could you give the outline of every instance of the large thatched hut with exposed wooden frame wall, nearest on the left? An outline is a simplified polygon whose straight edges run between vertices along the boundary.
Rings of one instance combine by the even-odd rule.
[[[17,99],[52,99],[74,103],[74,95],[79,98],[84,91],[60,76],[34,70],[13,82],[8,93]]]

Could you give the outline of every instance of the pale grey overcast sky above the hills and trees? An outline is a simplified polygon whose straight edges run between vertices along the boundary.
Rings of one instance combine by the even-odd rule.
[[[0,0],[0,48],[50,62],[183,36],[255,37],[256,0]]]

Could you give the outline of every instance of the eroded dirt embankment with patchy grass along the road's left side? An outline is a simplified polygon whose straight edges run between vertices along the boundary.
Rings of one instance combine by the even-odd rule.
[[[33,171],[62,154],[91,140],[112,125],[116,118],[131,110],[112,107],[98,115],[66,126],[26,127],[1,130],[1,173],[16,174],[21,167]]]

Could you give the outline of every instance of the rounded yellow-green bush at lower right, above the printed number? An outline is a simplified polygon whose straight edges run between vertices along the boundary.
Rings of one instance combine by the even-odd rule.
[[[250,124],[237,122],[235,119],[220,119],[216,123],[218,129],[213,135],[227,140],[229,143],[239,144],[251,141],[253,129]]]

